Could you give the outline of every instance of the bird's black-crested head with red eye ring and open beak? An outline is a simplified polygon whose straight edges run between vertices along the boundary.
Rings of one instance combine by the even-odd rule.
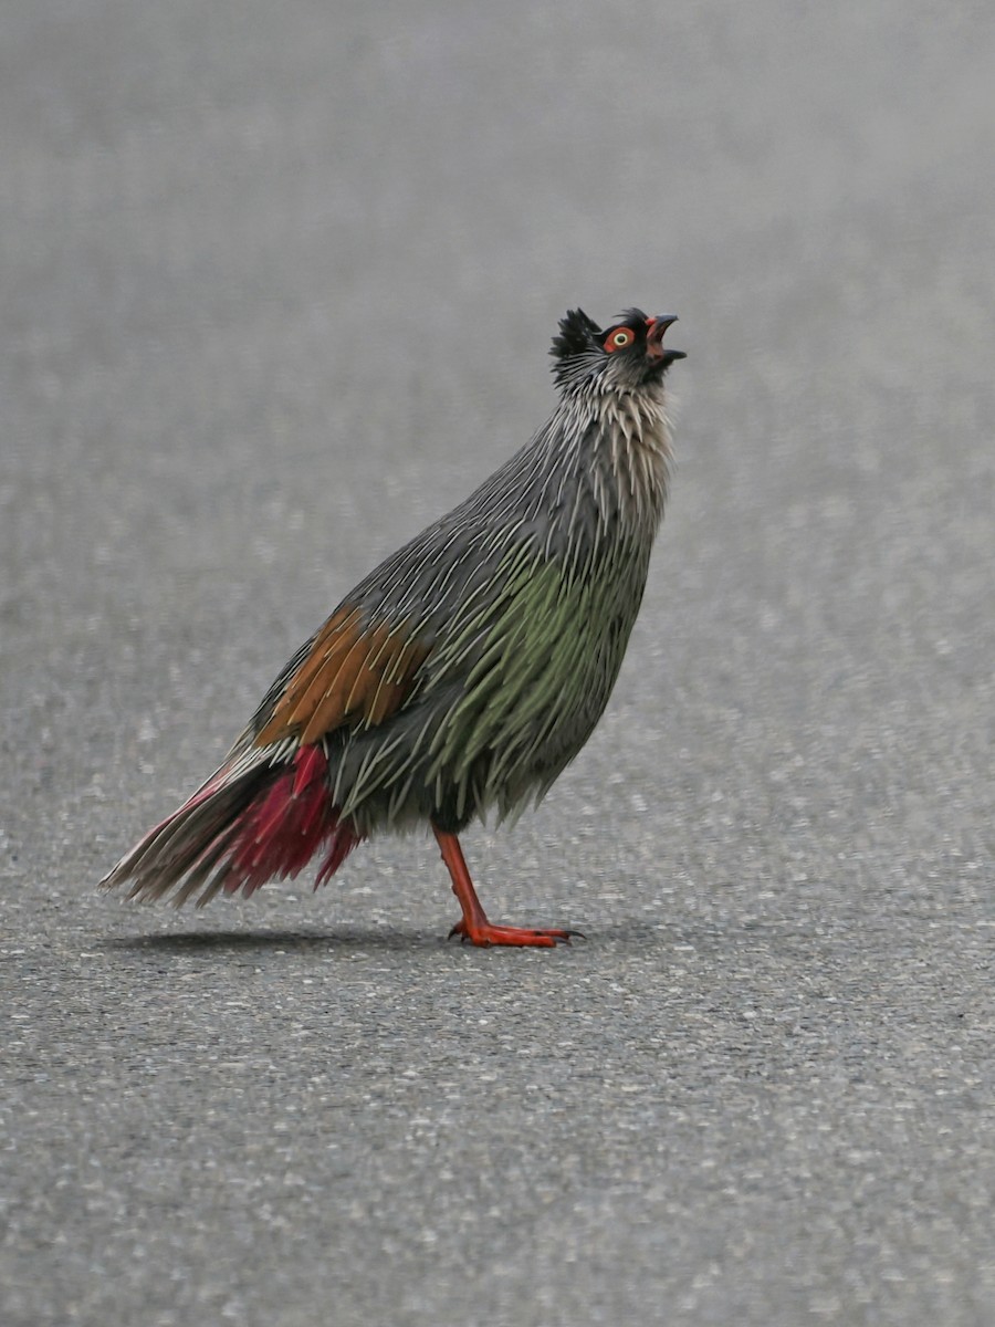
[[[560,321],[549,352],[560,387],[634,391],[659,384],[683,350],[665,350],[663,333],[677,318],[670,313],[649,317],[626,309],[608,328],[600,328],[582,309],[570,309]]]

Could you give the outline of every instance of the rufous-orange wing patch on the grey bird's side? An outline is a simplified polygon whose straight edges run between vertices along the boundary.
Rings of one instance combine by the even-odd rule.
[[[314,637],[308,657],[256,736],[256,746],[284,738],[302,744],[350,726],[373,726],[401,709],[429,646],[413,640],[405,624],[361,624],[357,608],[338,609]]]

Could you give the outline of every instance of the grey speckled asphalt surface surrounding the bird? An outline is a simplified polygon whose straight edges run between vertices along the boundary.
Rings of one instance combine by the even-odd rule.
[[[0,9],[8,1327],[995,1323],[995,9]],[[96,881],[375,559],[689,352],[536,815]]]

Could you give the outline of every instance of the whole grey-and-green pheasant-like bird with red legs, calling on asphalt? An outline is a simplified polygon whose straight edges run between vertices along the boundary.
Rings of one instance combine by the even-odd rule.
[[[289,660],[222,766],[103,877],[129,898],[249,897],[430,827],[476,946],[578,932],[488,920],[459,835],[537,804],[586,743],[639,610],[673,462],[673,314],[570,309],[557,402],[464,502],[371,571]]]

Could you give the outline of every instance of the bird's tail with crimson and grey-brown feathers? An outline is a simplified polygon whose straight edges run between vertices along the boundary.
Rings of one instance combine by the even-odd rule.
[[[203,906],[219,890],[251,893],[273,877],[296,876],[324,849],[316,880],[341,867],[361,835],[332,804],[328,759],[320,746],[292,760],[265,748],[244,751],[220,767],[162,824],[126,853],[101,889],[131,881],[129,898],[172,893],[179,908]]]

